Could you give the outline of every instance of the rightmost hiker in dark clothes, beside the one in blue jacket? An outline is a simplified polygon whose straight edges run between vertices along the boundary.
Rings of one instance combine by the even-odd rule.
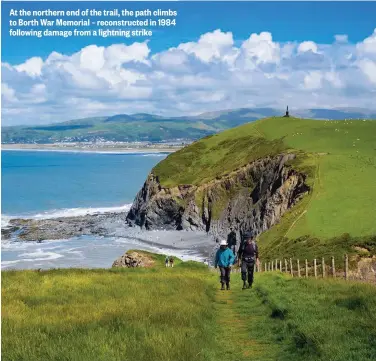
[[[243,290],[246,288],[252,288],[255,262],[258,263],[259,258],[258,258],[258,246],[257,246],[256,241],[252,239],[251,232],[247,232],[244,235],[243,243],[239,247],[238,262],[239,262],[239,266],[241,263]],[[248,280],[248,285],[247,285],[247,280]]]

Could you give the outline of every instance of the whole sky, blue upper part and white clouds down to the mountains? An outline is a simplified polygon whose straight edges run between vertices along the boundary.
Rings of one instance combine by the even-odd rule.
[[[178,16],[152,37],[10,37],[20,8]],[[286,104],[375,110],[375,14],[376,2],[2,2],[2,124]]]

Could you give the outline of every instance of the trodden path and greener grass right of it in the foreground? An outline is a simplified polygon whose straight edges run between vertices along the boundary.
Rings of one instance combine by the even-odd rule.
[[[254,287],[242,291],[236,274],[231,291],[216,293],[227,345],[218,360],[374,360],[375,294],[370,285],[280,273],[256,274]]]

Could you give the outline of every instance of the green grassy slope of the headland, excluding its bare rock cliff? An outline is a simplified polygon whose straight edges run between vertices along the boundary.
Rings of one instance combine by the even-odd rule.
[[[169,155],[153,172],[165,186],[202,184],[283,152],[297,154],[291,166],[308,175],[311,191],[262,234],[266,254],[280,255],[281,246],[286,251],[288,239],[294,240],[287,247],[291,256],[309,256],[307,244],[321,254],[333,251],[329,245],[336,242],[345,250],[360,242],[356,237],[376,235],[376,121],[266,118],[195,142]],[[360,244],[376,252],[375,239]]]

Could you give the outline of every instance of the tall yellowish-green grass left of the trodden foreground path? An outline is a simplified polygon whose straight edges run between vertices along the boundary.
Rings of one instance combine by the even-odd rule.
[[[2,359],[210,359],[215,291],[205,266],[164,269],[157,259],[153,269],[3,272]]]

